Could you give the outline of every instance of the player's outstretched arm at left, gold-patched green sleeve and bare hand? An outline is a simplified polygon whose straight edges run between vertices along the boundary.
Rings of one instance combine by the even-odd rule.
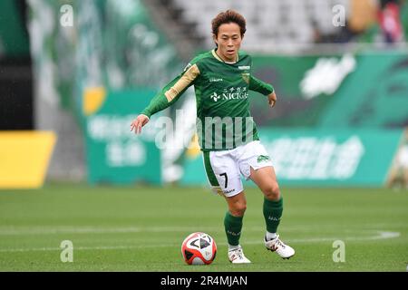
[[[180,99],[183,92],[189,88],[199,76],[199,67],[196,63],[189,64],[184,72],[169,82],[152,100],[149,106],[141,111],[141,114],[131,122],[131,131],[136,134],[141,133],[141,127],[146,125],[151,115],[158,111],[169,108],[174,102]]]

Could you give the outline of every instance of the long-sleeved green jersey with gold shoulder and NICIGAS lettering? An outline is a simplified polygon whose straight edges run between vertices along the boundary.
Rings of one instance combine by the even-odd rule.
[[[251,72],[252,60],[247,53],[238,53],[236,63],[222,61],[215,50],[199,54],[141,113],[150,118],[177,102],[194,85],[201,150],[230,150],[259,140],[249,112],[249,91],[268,95],[274,88]]]

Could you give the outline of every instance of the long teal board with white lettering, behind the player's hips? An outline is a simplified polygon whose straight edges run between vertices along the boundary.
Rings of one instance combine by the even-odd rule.
[[[384,186],[402,134],[403,130],[259,131],[284,186]],[[201,154],[186,160],[182,184],[206,182]]]

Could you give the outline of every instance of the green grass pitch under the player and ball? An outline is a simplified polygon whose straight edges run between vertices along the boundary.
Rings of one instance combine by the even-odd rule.
[[[289,260],[262,243],[262,195],[247,189],[241,245],[252,264],[228,262],[226,203],[201,188],[88,187],[48,184],[0,191],[0,271],[406,271],[408,191],[282,189],[281,238]],[[182,260],[184,237],[203,231],[218,253],[209,266]],[[63,240],[73,262],[63,263]],[[335,240],[345,262],[334,262]],[[336,256],[336,255],[335,255]]]

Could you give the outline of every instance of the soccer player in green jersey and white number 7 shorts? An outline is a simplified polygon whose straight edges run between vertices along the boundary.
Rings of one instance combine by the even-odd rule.
[[[239,245],[247,208],[240,174],[252,179],[264,194],[265,247],[282,258],[295,255],[295,250],[277,235],[283,199],[272,162],[260,143],[249,112],[249,91],[266,95],[271,107],[275,106],[277,95],[272,85],[251,74],[251,57],[239,51],[245,32],[246,20],[241,14],[233,10],[218,14],[212,20],[216,48],[196,56],[131,122],[131,131],[140,133],[152,114],[177,102],[194,85],[204,167],[212,189],[227,200],[224,226],[228,259],[234,264],[250,263]]]

